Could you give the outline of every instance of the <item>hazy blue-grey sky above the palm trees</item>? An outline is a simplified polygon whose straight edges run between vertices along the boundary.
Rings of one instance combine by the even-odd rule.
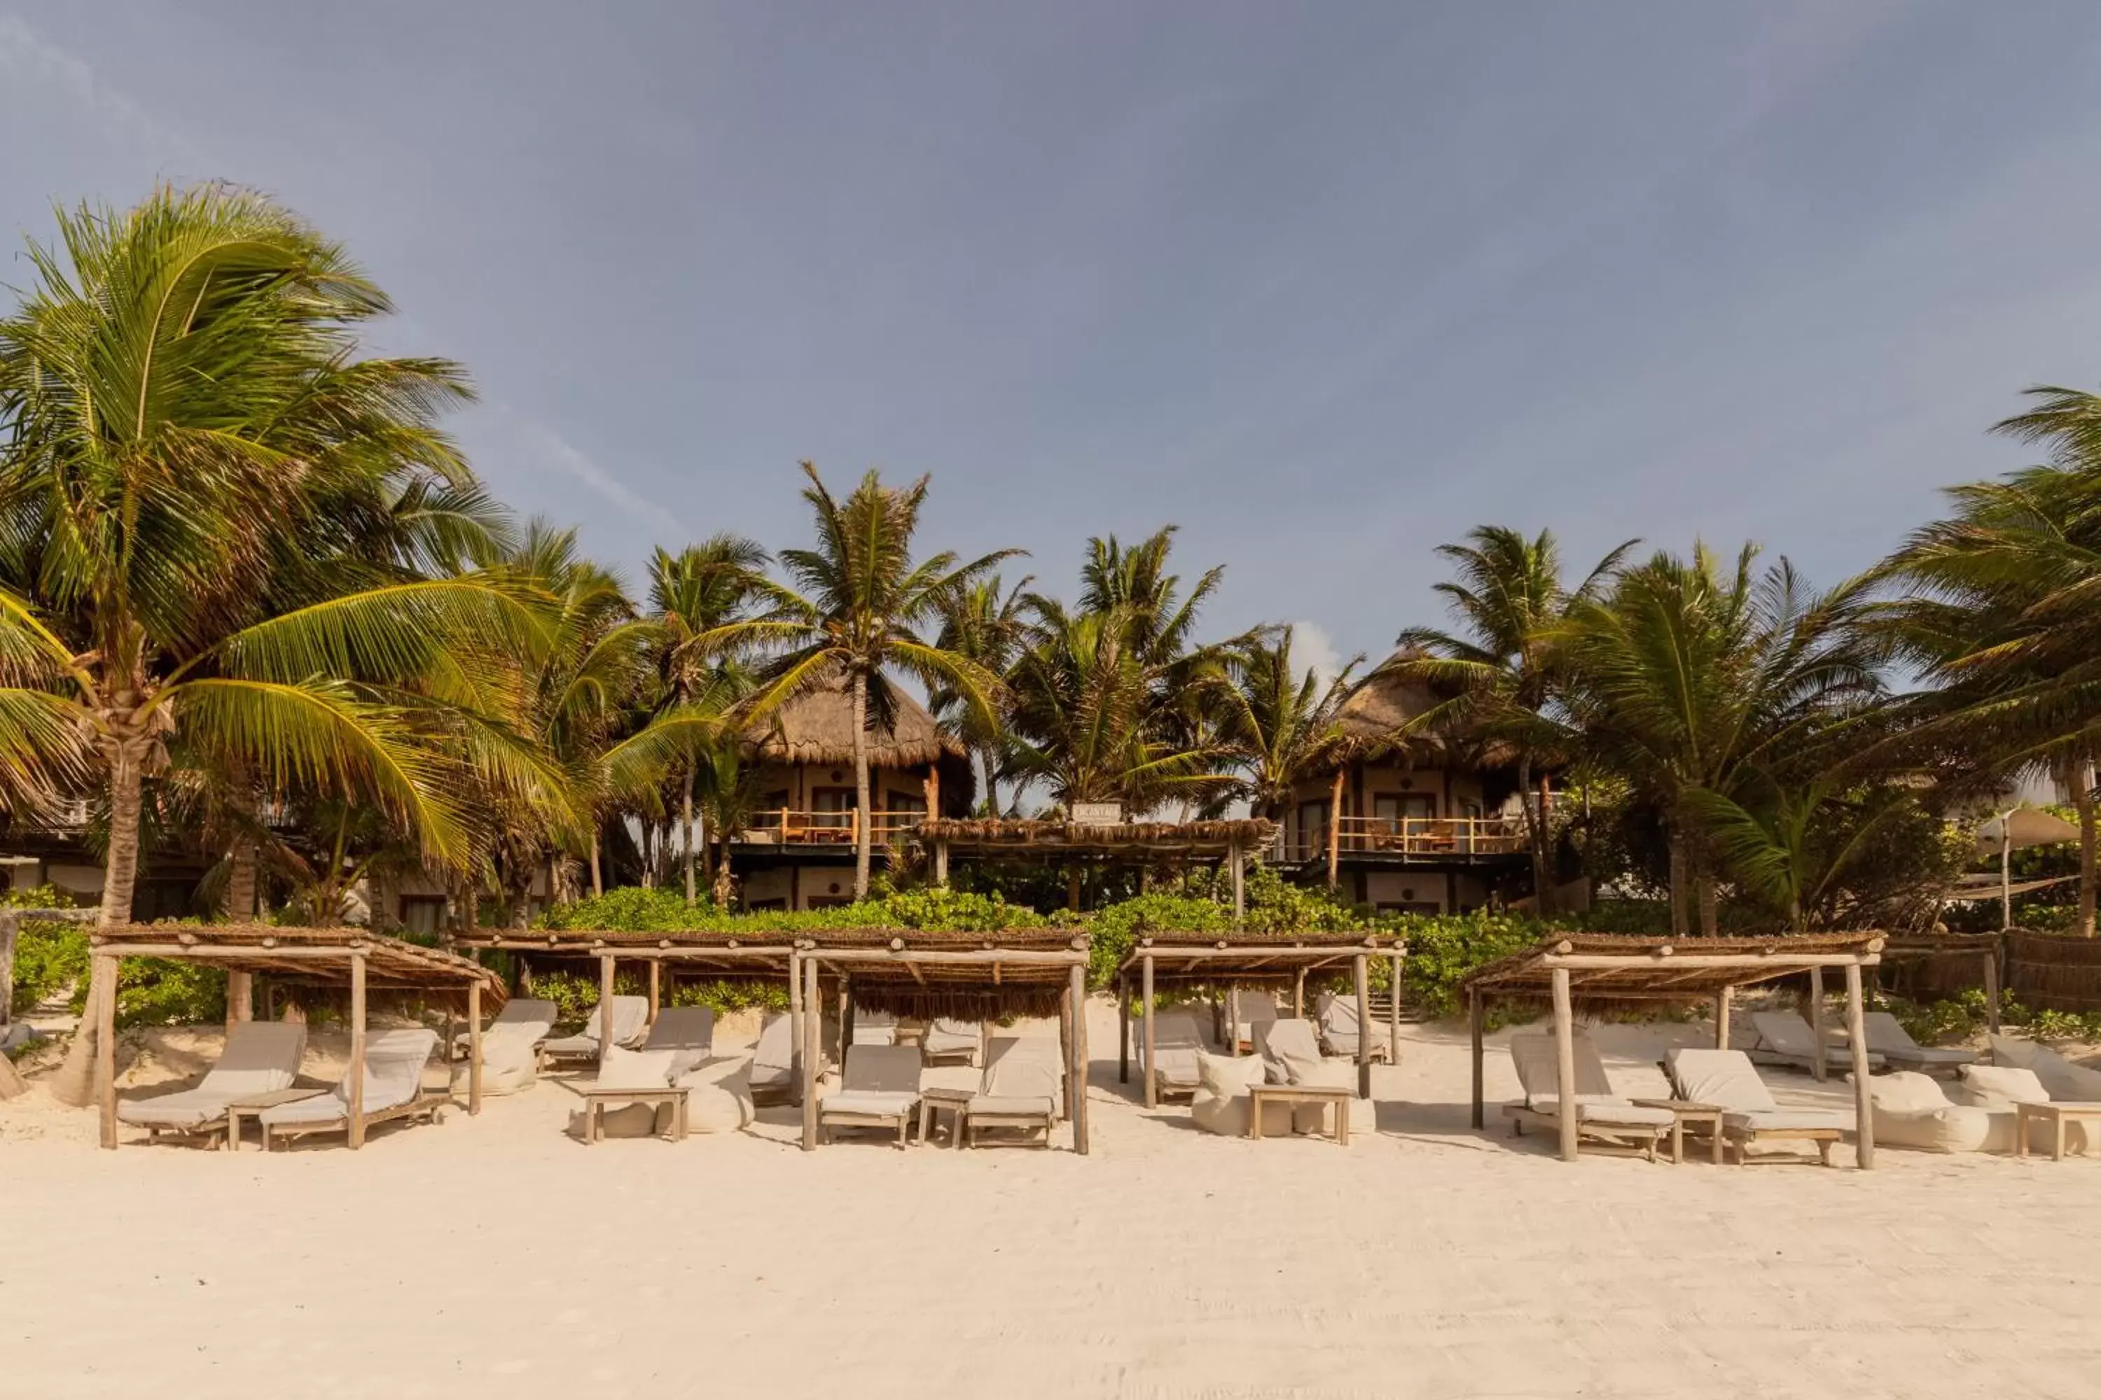
[[[2017,466],[2101,382],[2097,57],[2040,0],[0,0],[0,231],[275,191],[630,577],[800,542],[813,458],[1055,588],[1174,521],[1216,630],[1376,655],[1477,523],[1830,581]]]

